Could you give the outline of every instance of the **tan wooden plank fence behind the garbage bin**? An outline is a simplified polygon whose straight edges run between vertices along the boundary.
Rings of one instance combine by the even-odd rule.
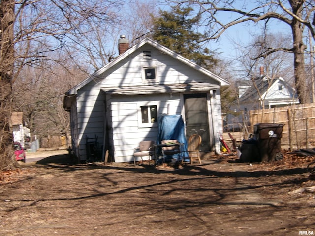
[[[250,111],[251,131],[257,123],[284,124],[281,144],[294,149],[315,148],[315,103]]]

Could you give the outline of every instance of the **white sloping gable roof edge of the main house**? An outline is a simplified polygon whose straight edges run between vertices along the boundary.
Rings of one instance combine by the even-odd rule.
[[[145,38],[143,39],[141,42],[135,44],[134,46],[130,47],[128,50],[126,50],[126,52],[124,52],[123,54],[119,55],[117,58],[115,58],[114,60],[112,60],[111,62],[109,62],[108,64],[106,64],[105,66],[103,66],[102,68],[100,68],[99,70],[97,70],[94,74],[92,74],[91,76],[89,76],[87,79],[83,80],[82,82],[80,82],[79,84],[77,84],[76,86],[74,86],[72,89],[69,89],[66,92],[66,95],[74,95],[77,94],[77,90],[81,89],[82,87],[84,87],[86,84],[88,84],[89,82],[91,82],[92,80],[94,80],[95,78],[99,78],[99,76],[104,73],[106,70],[108,70],[109,68],[111,68],[112,66],[114,66],[115,64],[117,64],[118,62],[120,62],[121,60],[125,59],[127,56],[129,56],[130,54],[132,54],[133,52],[135,52],[137,49],[141,48],[143,45],[145,44],[149,44],[155,48],[157,48],[160,52],[169,55],[181,62],[183,62],[184,64],[194,68],[195,70],[211,77],[212,79],[218,81],[221,85],[229,85],[229,82],[224,80],[223,78],[221,78],[218,75],[215,75],[214,73],[210,72],[209,70],[197,65],[196,63],[190,61],[189,59],[186,59],[184,57],[182,57],[181,55],[173,52],[172,50],[164,47],[163,45],[159,44],[158,42],[150,39],[150,38]]]

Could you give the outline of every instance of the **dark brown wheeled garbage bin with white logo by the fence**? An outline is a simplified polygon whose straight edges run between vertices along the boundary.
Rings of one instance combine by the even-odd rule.
[[[258,123],[254,125],[254,138],[258,142],[261,161],[283,159],[281,137],[284,124]]]

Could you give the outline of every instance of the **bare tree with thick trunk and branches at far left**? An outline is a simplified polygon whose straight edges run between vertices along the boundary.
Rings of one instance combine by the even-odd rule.
[[[112,22],[115,0],[0,1],[0,166],[11,156],[12,85],[25,66],[42,68],[43,60],[63,65],[50,52],[80,43],[92,23]]]

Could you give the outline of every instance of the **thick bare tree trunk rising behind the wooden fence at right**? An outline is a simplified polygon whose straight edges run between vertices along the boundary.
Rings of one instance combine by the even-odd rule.
[[[303,1],[289,0],[292,6],[292,12],[302,18]],[[306,46],[303,43],[303,29],[302,24],[293,18],[292,20],[292,34],[293,34],[293,51],[294,51],[294,78],[295,88],[301,104],[309,103],[308,86],[306,84],[304,50]]]

